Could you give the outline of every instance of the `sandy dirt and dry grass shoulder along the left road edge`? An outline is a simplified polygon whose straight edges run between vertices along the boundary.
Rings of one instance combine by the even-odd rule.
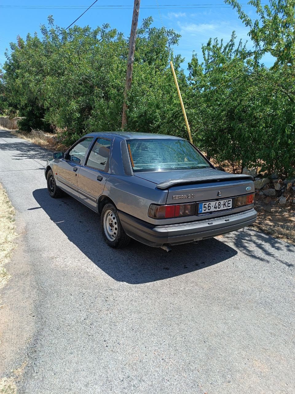
[[[24,256],[25,227],[19,218],[19,236],[15,228],[15,210],[0,184],[0,394],[17,393],[17,383],[26,366],[21,349],[30,341],[34,329],[35,282]],[[20,368],[15,368],[21,363]]]

